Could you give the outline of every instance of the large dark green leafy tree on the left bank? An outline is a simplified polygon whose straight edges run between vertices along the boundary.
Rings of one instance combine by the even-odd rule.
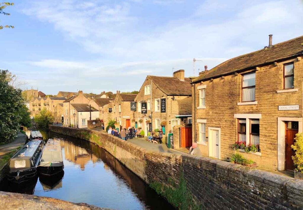
[[[8,70],[0,69],[0,143],[13,140],[20,123],[26,122],[21,90],[9,85],[9,82]]]

